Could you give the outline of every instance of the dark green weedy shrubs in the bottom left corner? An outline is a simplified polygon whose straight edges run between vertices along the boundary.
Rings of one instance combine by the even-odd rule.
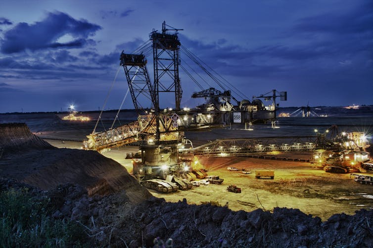
[[[51,217],[48,203],[47,197],[32,197],[27,188],[0,192],[0,247],[83,246],[83,228]]]

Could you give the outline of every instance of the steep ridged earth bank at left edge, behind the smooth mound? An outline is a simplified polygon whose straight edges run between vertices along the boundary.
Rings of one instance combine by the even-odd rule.
[[[34,149],[55,149],[34,135],[24,123],[0,124],[0,147],[4,154]]]

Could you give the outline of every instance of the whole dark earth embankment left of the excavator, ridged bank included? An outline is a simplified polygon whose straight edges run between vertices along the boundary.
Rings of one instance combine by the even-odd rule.
[[[89,195],[124,190],[130,202],[149,198],[126,168],[95,151],[56,148],[23,123],[0,124],[0,175],[49,190],[60,184],[84,187]]]

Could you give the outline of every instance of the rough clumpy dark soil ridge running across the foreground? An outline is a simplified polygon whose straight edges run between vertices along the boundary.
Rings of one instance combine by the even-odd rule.
[[[54,218],[79,222],[94,246],[115,247],[372,247],[373,211],[334,214],[322,222],[298,209],[232,211],[227,207],[167,203],[151,197],[134,204],[123,192],[90,197],[74,184],[41,191],[0,179],[0,192],[30,188],[47,196]]]

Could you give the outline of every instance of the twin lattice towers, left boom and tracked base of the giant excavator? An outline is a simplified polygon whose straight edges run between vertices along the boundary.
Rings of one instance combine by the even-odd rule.
[[[181,176],[186,171],[178,158],[178,144],[182,143],[186,121],[180,119],[180,102],[182,89],[179,78],[178,29],[166,28],[163,23],[162,32],[153,31],[150,40],[153,47],[154,81],[150,82],[143,54],[127,54],[122,51],[120,65],[124,68],[131,92],[138,121],[111,128],[104,132],[88,135],[85,149],[101,151],[103,149],[140,142],[141,162],[134,164],[134,174],[143,185],[160,192],[173,192],[178,187],[164,179],[170,171],[177,171]],[[169,26],[167,26],[169,27]],[[170,34],[167,31],[176,31]],[[175,108],[161,112],[159,95],[174,93]],[[140,98],[151,100],[151,110],[146,111],[140,105]],[[184,111],[186,112],[186,111]],[[190,122],[191,123],[191,122]],[[182,124],[182,126],[180,126]],[[182,167],[183,166],[183,167]],[[148,181],[146,179],[149,179]]]

